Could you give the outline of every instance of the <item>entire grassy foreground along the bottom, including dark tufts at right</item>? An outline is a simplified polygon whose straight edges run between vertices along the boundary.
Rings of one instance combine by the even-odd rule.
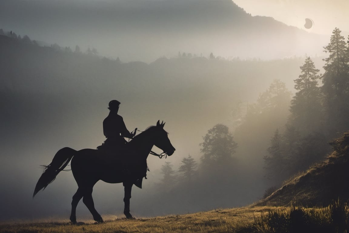
[[[248,206],[146,219],[112,220],[113,217],[108,216],[110,220],[102,224],[89,222],[72,225],[68,221],[7,223],[0,225],[0,233],[345,232],[349,231],[348,211],[347,203],[340,201],[320,208]]]

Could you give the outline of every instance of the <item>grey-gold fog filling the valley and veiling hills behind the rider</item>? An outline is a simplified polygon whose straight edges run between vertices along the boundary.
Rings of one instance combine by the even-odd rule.
[[[288,122],[291,96],[257,126],[243,124],[247,106],[275,79],[293,95],[306,53],[323,72],[322,46],[329,43],[329,36],[252,17],[230,1],[3,0],[0,23],[4,31],[27,34],[42,45],[0,38],[1,221],[68,218],[77,189],[72,173],[61,172],[32,199],[40,165],[62,147],[101,145],[113,99],[121,102],[128,130],[164,121],[176,148],[166,159],[149,155],[148,179],[132,192],[134,217],[258,201],[275,185],[264,177],[263,156],[274,130]],[[75,45],[82,52],[96,48],[98,55],[64,51]],[[231,175],[217,181],[210,175],[218,171],[200,168],[199,144],[218,123],[229,127],[238,148]],[[201,178],[186,189],[180,181],[161,186],[162,165],[171,162],[178,170],[189,154]],[[102,217],[123,217],[122,184],[99,181],[92,195]],[[77,218],[91,219],[82,202]]]

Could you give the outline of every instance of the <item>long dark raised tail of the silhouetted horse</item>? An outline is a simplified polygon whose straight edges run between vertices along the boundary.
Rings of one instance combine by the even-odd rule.
[[[33,198],[38,191],[45,189],[47,185],[56,179],[58,173],[63,170],[73,158],[74,152],[76,152],[74,149],[64,147],[54,155],[52,162],[48,166],[43,166],[44,172],[36,183]]]

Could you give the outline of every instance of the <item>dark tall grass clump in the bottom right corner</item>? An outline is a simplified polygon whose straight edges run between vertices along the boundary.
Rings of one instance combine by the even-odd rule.
[[[251,231],[252,229],[252,231]],[[254,217],[252,227],[240,232],[253,233],[347,233],[349,232],[348,204],[339,199],[326,207],[274,207]]]

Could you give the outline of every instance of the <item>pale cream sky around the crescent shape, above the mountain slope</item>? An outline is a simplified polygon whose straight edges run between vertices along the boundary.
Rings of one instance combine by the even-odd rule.
[[[251,15],[270,16],[285,24],[317,34],[331,35],[337,27],[349,32],[349,1],[347,0],[235,0]],[[311,29],[304,28],[305,19],[314,21]]]

